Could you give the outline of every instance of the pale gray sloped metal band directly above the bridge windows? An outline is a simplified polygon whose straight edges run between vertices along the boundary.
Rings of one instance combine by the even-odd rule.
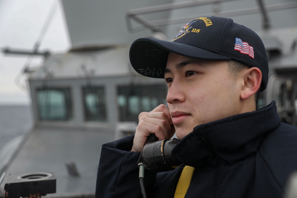
[[[30,80],[76,79],[136,74],[129,62],[129,46],[70,51],[47,58]]]

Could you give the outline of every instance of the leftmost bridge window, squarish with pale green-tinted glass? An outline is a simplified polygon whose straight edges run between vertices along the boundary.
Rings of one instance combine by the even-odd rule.
[[[71,120],[72,102],[69,88],[37,89],[40,120]]]

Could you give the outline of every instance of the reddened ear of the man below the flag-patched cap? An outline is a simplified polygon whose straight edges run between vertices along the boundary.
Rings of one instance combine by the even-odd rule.
[[[241,87],[240,98],[245,100],[257,93],[262,81],[262,73],[259,68],[252,67],[244,70],[242,77],[244,84]]]

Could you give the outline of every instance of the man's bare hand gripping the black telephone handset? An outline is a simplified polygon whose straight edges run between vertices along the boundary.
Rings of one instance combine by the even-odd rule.
[[[150,112],[140,113],[138,121],[131,151],[141,152],[150,134],[155,134],[159,140],[163,140],[170,139],[175,132],[170,112],[164,104]]]

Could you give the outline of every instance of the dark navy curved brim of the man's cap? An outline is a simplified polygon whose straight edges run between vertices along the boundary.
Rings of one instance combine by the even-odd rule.
[[[191,45],[153,38],[140,38],[135,40],[130,47],[130,63],[133,69],[141,75],[153,78],[164,78],[164,69],[167,64],[169,52],[190,58],[210,60],[231,59],[228,56],[223,56]]]

